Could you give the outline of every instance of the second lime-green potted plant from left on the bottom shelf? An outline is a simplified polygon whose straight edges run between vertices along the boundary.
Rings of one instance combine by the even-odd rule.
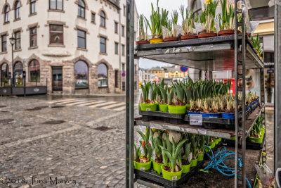
[[[156,131],[153,134],[152,139],[152,149],[155,151],[155,159],[152,161],[153,169],[158,173],[162,173],[161,166],[163,164],[163,157],[162,157],[162,135],[159,134],[161,132]]]

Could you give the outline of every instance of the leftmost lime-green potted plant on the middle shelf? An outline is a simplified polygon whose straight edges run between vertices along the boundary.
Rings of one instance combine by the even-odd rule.
[[[148,99],[149,94],[150,96],[154,97],[153,94],[157,91],[157,88],[154,89],[152,92],[150,92],[150,88],[151,82],[144,81],[144,87],[141,87],[141,111],[157,111],[157,104],[155,103],[155,101]]]

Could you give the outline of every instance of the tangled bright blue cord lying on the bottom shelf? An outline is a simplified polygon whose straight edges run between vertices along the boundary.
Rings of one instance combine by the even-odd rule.
[[[233,157],[235,156],[235,153],[233,153],[232,151],[228,151],[226,150],[226,147],[223,147],[221,148],[221,151],[218,151],[216,153],[215,156],[213,151],[211,151],[211,156],[210,156],[206,148],[209,149],[209,151],[211,151],[211,149],[209,148],[209,146],[204,146],[204,152],[211,159],[211,161],[209,162],[209,165],[207,165],[207,167],[204,168],[205,171],[209,170],[210,168],[213,168],[215,170],[218,170],[218,172],[220,172],[221,174],[226,175],[228,177],[235,175],[235,168],[230,168],[224,163],[224,161],[235,158]],[[242,167],[242,158],[238,158],[237,163],[238,166]],[[241,177],[241,175],[238,175],[238,177]],[[249,188],[251,188],[251,184],[247,178],[246,181],[247,184],[249,185]]]

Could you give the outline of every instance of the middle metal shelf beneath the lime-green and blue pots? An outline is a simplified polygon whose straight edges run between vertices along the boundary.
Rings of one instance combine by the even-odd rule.
[[[264,106],[256,108],[247,118],[246,120],[246,137],[249,136],[251,131],[251,127],[253,127],[254,123],[256,123],[257,118],[261,115]],[[135,125],[147,126],[150,128],[161,129],[161,130],[175,130],[178,132],[189,132],[192,134],[202,134],[211,137],[221,137],[225,139],[230,139],[230,137],[235,136],[235,130],[226,130],[226,129],[216,129],[216,130],[208,130],[204,129],[201,126],[194,126],[188,124],[181,125],[173,125],[170,123],[164,123],[162,120],[152,120],[152,121],[144,121],[141,118],[135,119]],[[240,136],[242,136],[242,132],[238,132]]]

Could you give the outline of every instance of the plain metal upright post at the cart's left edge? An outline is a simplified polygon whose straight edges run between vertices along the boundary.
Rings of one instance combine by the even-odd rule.
[[[134,0],[126,1],[126,187],[133,188]]]

